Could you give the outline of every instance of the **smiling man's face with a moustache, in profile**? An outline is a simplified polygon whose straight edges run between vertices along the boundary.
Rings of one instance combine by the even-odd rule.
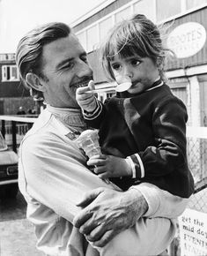
[[[77,37],[70,34],[45,45],[42,66],[45,101],[57,108],[79,108],[76,89],[88,84],[92,69]]]

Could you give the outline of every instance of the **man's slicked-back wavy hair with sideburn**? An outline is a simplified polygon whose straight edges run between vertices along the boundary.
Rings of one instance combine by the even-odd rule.
[[[70,27],[66,24],[51,22],[34,28],[18,42],[16,64],[19,77],[24,86],[32,90],[34,98],[42,98],[43,95],[26,83],[26,73],[33,72],[44,78],[44,74],[41,72],[43,47],[49,42],[67,37],[70,32]]]

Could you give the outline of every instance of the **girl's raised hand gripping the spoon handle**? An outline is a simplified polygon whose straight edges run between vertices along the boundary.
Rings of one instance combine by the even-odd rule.
[[[76,91],[76,100],[81,109],[87,112],[93,112],[97,108],[97,99],[92,92],[94,88],[93,81],[90,81],[87,87],[79,87]]]

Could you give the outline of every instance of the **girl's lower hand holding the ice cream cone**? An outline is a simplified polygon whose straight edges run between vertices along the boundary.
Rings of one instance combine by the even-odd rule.
[[[131,167],[124,158],[114,155],[93,155],[87,162],[100,178],[131,176]]]

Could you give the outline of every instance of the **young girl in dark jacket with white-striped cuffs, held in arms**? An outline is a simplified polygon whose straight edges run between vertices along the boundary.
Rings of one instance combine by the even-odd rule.
[[[159,29],[144,15],[124,20],[110,32],[102,61],[126,90],[102,104],[91,87],[77,90],[90,126],[99,128],[102,153],[88,165],[127,190],[148,182],[183,198],[194,190],[186,155],[187,109],[172,94],[163,72],[167,49]],[[121,86],[122,87],[122,86]]]

